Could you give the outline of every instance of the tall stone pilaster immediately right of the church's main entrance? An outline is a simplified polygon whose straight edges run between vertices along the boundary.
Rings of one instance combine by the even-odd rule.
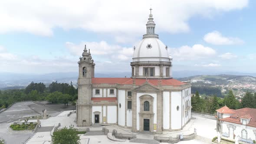
[[[162,134],[162,91],[157,93],[157,131],[156,134]]]

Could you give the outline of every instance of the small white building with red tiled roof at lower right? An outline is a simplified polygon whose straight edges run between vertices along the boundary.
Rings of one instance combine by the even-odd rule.
[[[217,131],[223,137],[253,143],[256,141],[256,108],[230,109],[226,105],[217,109]]]

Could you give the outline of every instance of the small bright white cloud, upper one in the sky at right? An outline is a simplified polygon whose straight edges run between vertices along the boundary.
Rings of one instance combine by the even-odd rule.
[[[213,31],[211,33],[207,33],[203,40],[207,43],[211,43],[213,45],[236,45],[243,44],[243,40],[236,37],[226,37],[222,36],[222,34],[218,31]]]

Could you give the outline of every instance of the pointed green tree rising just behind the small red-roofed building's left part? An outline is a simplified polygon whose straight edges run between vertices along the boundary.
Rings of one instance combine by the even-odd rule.
[[[240,102],[235,98],[232,90],[228,92],[223,100],[224,105],[231,109],[238,109],[240,108]]]

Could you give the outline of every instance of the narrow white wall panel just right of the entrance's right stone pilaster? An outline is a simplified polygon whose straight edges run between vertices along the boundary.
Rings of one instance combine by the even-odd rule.
[[[170,92],[163,92],[163,128],[170,128]]]

